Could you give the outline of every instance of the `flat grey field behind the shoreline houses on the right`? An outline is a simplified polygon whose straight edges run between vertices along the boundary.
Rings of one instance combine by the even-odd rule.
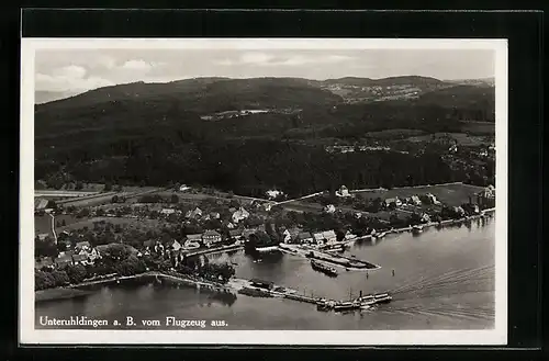
[[[374,190],[357,192],[363,198],[369,199],[388,199],[399,196],[401,199],[412,195],[421,195],[426,193],[434,194],[440,202],[450,205],[458,206],[466,203],[469,196],[474,196],[475,193],[481,191],[482,187],[469,185],[463,183],[451,183],[451,184],[440,184],[440,185],[422,185],[422,187],[411,187],[411,188],[395,188],[392,190]]]

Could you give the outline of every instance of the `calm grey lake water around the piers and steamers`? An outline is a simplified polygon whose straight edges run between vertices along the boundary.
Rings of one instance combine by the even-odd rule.
[[[306,259],[287,253],[266,255],[261,261],[242,251],[210,256],[212,261],[237,263],[238,278],[272,281],[315,296],[344,300],[358,296],[360,291],[391,292],[393,302],[372,311],[325,313],[289,300],[234,298],[192,287],[132,282],[98,286],[83,298],[38,303],[36,327],[43,328],[40,316],[85,315],[111,323],[123,321],[126,316],[138,321],[159,319],[161,326],[155,328],[161,329],[173,329],[165,326],[167,316],[224,320],[228,325],[225,329],[493,328],[495,241],[494,218],[429,228],[418,236],[389,235],[376,245],[355,245],[346,252],[381,269],[368,273],[339,269],[337,278],[316,272]]]

